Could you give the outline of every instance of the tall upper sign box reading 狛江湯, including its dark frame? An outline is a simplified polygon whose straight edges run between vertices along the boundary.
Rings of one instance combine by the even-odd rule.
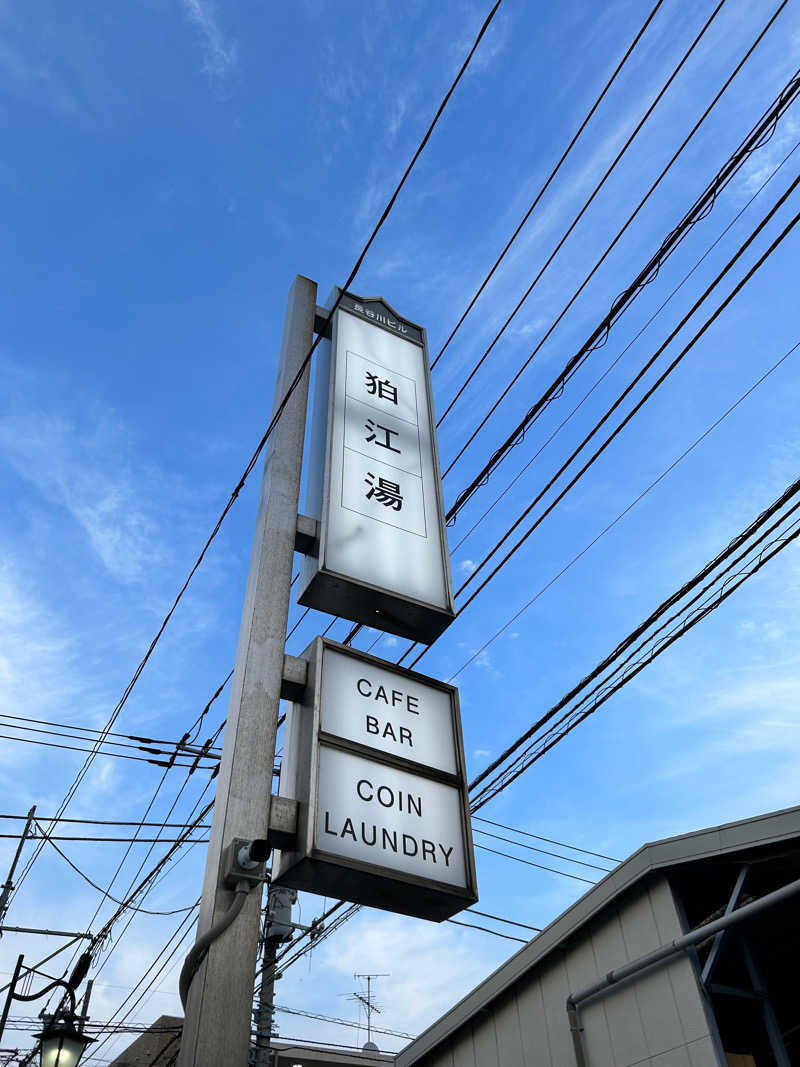
[[[454,618],[425,331],[345,293],[319,346],[299,602],[430,643]]]

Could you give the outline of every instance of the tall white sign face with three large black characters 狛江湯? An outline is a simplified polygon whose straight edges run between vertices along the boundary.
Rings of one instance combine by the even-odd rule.
[[[450,608],[425,350],[340,308],[323,566]]]

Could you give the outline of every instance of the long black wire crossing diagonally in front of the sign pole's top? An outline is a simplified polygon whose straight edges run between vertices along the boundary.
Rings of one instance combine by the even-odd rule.
[[[473,59],[476,50],[478,49],[478,46],[480,45],[480,42],[483,38],[483,35],[485,34],[485,32],[489,29],[492,20],[494,19],[495,14],[497,13],[497,10],[499,9],[501,2],[502,2],[502,0],[496,0],[495,4],[492,6],[491,11],[489,12],[489,14],[486,15],[486,17],[484,18],[484,20],[483,20],[483,22],[482,22],[482,25],[481,25],[481,27],[480,27],[480,29],[478,31],[478,35],[476,36],[475,42],[474,42],[471,48],[469,49],[469,52],[467,53],[465,60],[461,64],[461,66],[459,68],[459,71],[455,75],[455,78],[453,79],[452,83],[450,84],[450,87],[448,89],[448,91],[445,94],[442,102],[439,103],[438,108],[436,109],[436,112],[435,112],[435,114],[433,116],[433,120],[431,121],[430,125],[428,126],[428,129],[426,130],[426,132],[425,132],[425,134],[422,137],[422,140],[419,142],[419,145],[417,146],[416,150],[414,152],[414,155],[412,156],[409,165],[405,168],[405,171],[403,172],[402,177],[400,178],[399,182],[397,184],[397,186],[395,188],[395,191],[391,193],[391,195],[390,195],[390,197],[388,200],[388,203],[386,204],[385,208],[383,209],[383,211],[382,211],[382,213],[381,213],[378,222],[375,223],[374,227],[372,228],[372,232],[369,235],[369,237],[368,237],[368,239],[367,239],[364,248],[362,249],[361,253],[358,254],[358,256],[357,256],[357,258],[355,260],[355,264],[354,264],[352,270],[350,271],[350,274],[348,275],[348,277],[347,277],[347,280],[345,282],[345,285],[341,287],[341,289],[339,291],[339,294],[337,296],[336,300],[334,301],[333,306],[329,310],[326,319],[325,319],[325,324],[327,324],[327,323],[331,322],[331,320],[333,318],[333,315],[334,315],[336,308],[338,307],[338,305],[339,305],[339,303],[341,301],[341,297],[342,297],[343,292],[346,290],[348,290],[350,288],[350,286],[352,285],[352,283],[353,283],[356,274],[358,273],[358,270],[361,269],[362,264],[364,262],[364,259],[365,259],[367,253],[369,252],[370,248],[372,246],[373,241],[378,237],[378,234],[380,233],[380,230],[382,229],[384,223],[386,222],[387,218],[389,217],[389,213],[390,213],[391,209],[394,208],[395,203],[396,203],[398,196],[400,195],[400,192],[403,189],[403,187],[404,187],[404,185],[405,185],[405,182],[406,182],[406,180],[409,178],[409,175],[411,174],[412,170],[414,169],[414,165],[416,164],[417,160],[419,159],[419,157],[421,156],[422,152],[425,150],[425,147],[428,144],[428,141],[430,140],[431,134],[433,133],[433,130],[435,129],[435,127],[436,127],[436,125],[437,125],[437,123],[438,123],[442,114],[444,113],[445,108],[447,107],[447,105],[448,105],[448,102],[450,100],[450,97],[452,96],[453,92],[455,91],[457,85],[459,84],[459,82],[461,81],[462,77],[464,76],[464,73],[466,71],[467,67],[469,66],[469,63],[470,63],[470,61],[471,61],[471,59]],[[724,0],[722,0],[722,2],[724,2]],[[289,398],[292,396],[294,389],[298,387],[298,385],[299,385],[300,381],[302,380],[303,376],[306,373],[306,371],[308,369],[308,366],[310,364],[311,357],[314,355],[314,352],[316,351],[317,346],[319,345],[321,337],[322,337],[322,334],[317,334],[317,336],[315,337],[315,339],[314,339],[310,348],[308,349],[308,352],[307,352],[306,356],[304,357],[304,360],[303,360],[303,362],[302,362],[302,364],[300,366],[300,369],[298,370],[297,375],[294,376],[294,379],[292,380],[291,384],[289,385],[289,388],[287,389],[286,395],[284,396],[283,400],[281,400],[281,402],[277,404],[277,407],[276,407],[276,409],[274,411],[274,414],[272,415],[272,418],[270,419],[270,423],[267,426],[267,429],[266,429],[265,433],[261,436],[261,440],[258,442],[258,445],[256,446],[255,451],[253,452],[250,461],[247,462],[247,465],[244,468],[244,472],[242,473],[242,476],[240,477],[238,483],[236,484],[234,491],[231,492],[230,497],[228,498],[227,504],[225,505],[225,507],[223,508],[222,512],[220,513],[220,516],[217,520],[217,523],[214,524],[214,527],[211,530],[211,534],[209,535],[209,537],[207,538],[205,544],[203,545],[203,548],[201,550],[199,555],[197,556],[196,560],[192,564],[192,568],[191,568],[191,570],[189,572],[189,575],[187,576],[186,580],[183,582],[183,585],[180,587],[180,589],[178,591],[178,594],[175,598],[175,600],[173,601],[173,604],[170,607],[170,610],[164,616],[164,618],[163,618],[163,620],[162,620],[162,622],[161,622],[161,624],[160,624],[160,626],[159,626],[159,628],[158,628],[158,631],[156,633],[156,636],[150,641],[150,643],[149,643],[149,646],[147,648],[147,651],[145,652],[142,660],[140,662],[139,666],[137,667],[135,671],[133,672],[132,678],[130,679],[130,681],[128,682],[127,686],[123,690],[123,695],[122,695],[119,701],[117,702],[116,706],[114,707],[113,712],[111,713],[111,716],[110,716],[108,722],[103,727],[103,732],[102,732],[103,737],[105,737],[106,731],[110,730],[113,727],[114,722],[116,721],[117,717],[119,716],[123,707],[125,706],[125,704],[126,704],[126,702],[128,700],[128,697],[130,696],[131,691],[133,690],[133,687],[137,684],[137,682],[139,681],[139,678],[140,678],[142,671],[144,670],[145,666],[147,665],[147,662],[149,660],[150,656],[153,655],[153,652],[156,649],[156,646],[158,644],[158,642],[159,642],[159,640],[161,638],[161,635],[163,634],[163,632],[166,628],[170,620],[172,619],[173,614],[175,612],[178,604],[180,603],[180,601],[181,601],[181,599],[183,596],[183,593],[189,588],[189,584],[191,583],[192,578],[194,577],[194,575],[195,575],[197,569],[199,568],[201,563],[205,559],[206,553],[208,552],[208,550],[211,546],[212,542],[217,538],[217,535],[219,534],[220,529],[222,528],[223,522],[225,521],[228,512],[230,511],[231,507],[236,503],[236,500],[237,500],[237,498],[239,496],[239,493],[244,488],[244,484],[245,484],[247,478],[250,477],[250,475],[252,474],[253,469],[255,468],[255,465],[258,462],[258,458],[261,455],[261,452],[262,452],[262,450],[263,450],[263,448],[265,448],[265,446],[267,444],[267,441],[269,440],[272,431],[274,430],[275,426],[277,425],[278,419],[283,415],[283,413],[284,413],[284,411],[286,409],[287,403],[289,402]],[[66,810],[67,805],[70,802],[70,800],[75,796],[75,793],[77,792],[80,783],[83,781],[86,773],[89,771],[89,767],[91,766],[93,760],[94,760],[94,753],[90,754],[89,759],[86,761],[84,761],[83,767],[78,771],[78,775],[76,776],[75,780],[73,781],[73,784],[69,786],[69,789],[67,791],[67,794],[66,794],[64,800],[62,801],[62,803],[61,803],[61,806],[59,808],[59,812],[58,812],[59,815],[62,815],[64,813],[64,811]],[[30,869],[33,865],[33,863],[35,862],[36,858],[41,855],[41,851],[42,851],[41,847],[37,850],[34,851],[32,858],[28,862],[28,865],[25,867],[25,870],[22,871],[21,875],[19,876],[19,878],[17,880],[16,890],[19,889],[19,886],[23,881],[26,875],[30,871]]]

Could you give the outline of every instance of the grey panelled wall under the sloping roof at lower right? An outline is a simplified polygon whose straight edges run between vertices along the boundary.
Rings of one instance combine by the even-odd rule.
[[[419,1067],[573,1067],[566,998],[683,933],[665,878],[625,894]],[[589,1067],[719,1067],[691,961],[678,957],[581,1005]]]

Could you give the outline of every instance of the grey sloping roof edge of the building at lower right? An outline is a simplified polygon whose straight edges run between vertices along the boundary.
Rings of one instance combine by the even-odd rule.
[[[406,1046],[397,1056],[397,1067],[411,1067],[647,875],[791,839],[800,839],[800,807],[643,845]]]

